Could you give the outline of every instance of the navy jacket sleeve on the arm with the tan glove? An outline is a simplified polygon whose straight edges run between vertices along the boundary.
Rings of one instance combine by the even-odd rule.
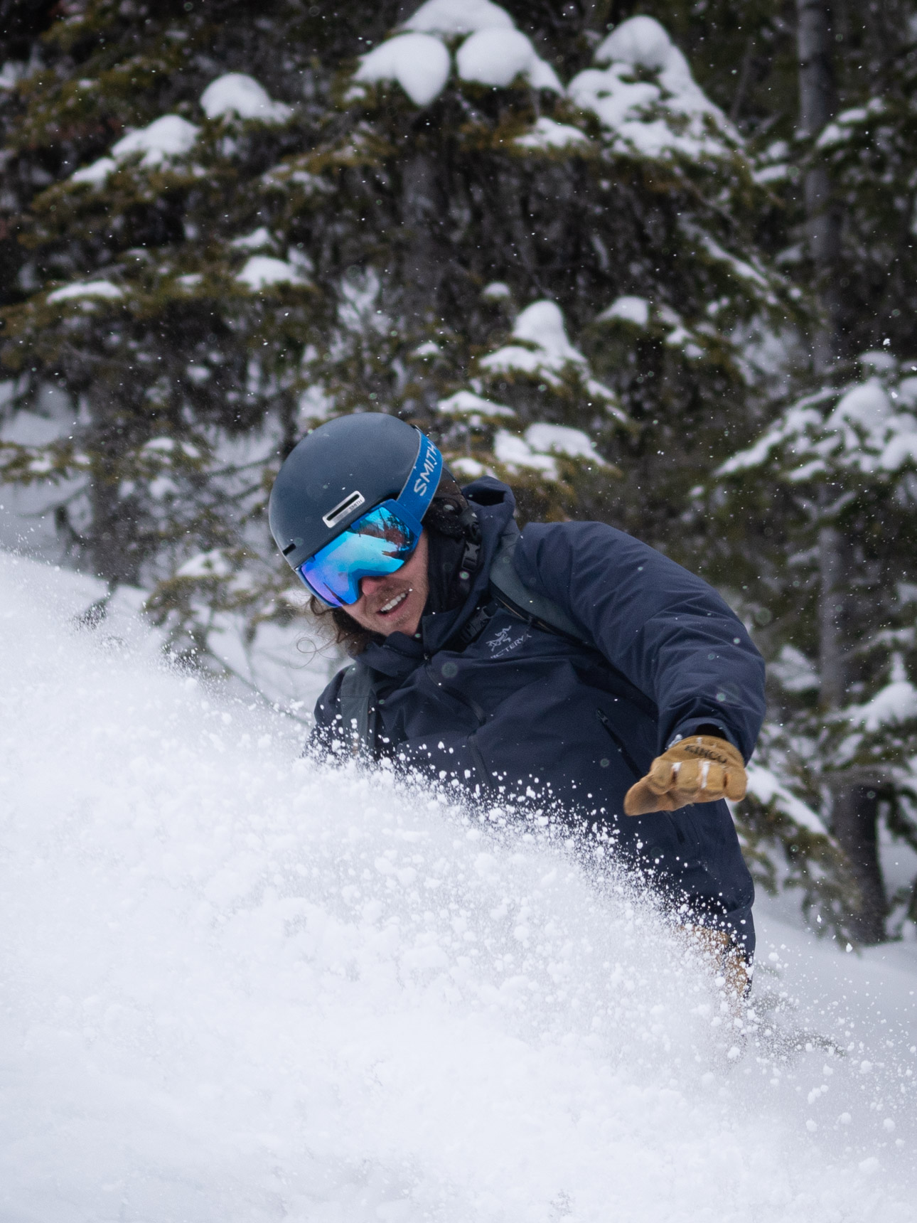
[[[764,660],[707,582],[603,522],[531,523],[514,560],[526,586],[567,610],[653,701],[659,751],[707,723],[748,759],[764,719]]]

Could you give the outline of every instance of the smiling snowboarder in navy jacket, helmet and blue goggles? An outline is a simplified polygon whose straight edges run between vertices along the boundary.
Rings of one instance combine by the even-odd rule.
[[[648,544],[602,522],[520,533],[514,508],[496,479],[460,489],[392,416],[339,417],[290,453],[270,528],[355,657],[318,701],[312,747],[587,822],[741,989],[754,888],[723,799],[745,794],[762,658]]]

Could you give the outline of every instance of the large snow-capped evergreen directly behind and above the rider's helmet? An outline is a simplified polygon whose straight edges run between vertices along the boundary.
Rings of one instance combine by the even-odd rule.
[[[298,201],[278,170],[313,230],[339,234],[347,209],[362,226],[319,402],[416,419],[526,512],[661,541],[723,430],[754,418],[731,333],[781,311],[749,240],[759,197],[657,22],[602,39],[566,89],[536,44],[495,5],[424,4],[345,78],[346,126],[296,159]]]

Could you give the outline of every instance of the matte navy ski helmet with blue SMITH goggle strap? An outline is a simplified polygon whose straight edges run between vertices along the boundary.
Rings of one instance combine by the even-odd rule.
[[[270,533],[291,569],[381,501],[419,522],[443,472],[443,455],[419,429],[383,412],[355,412],[298,442],[270,490]]]

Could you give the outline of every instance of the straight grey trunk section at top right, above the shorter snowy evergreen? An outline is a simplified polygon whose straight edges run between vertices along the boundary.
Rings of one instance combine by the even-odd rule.
[[[827,0],[796,0],[800,60],[800,136],[817,137],[838,109],[834,79],[834,39]],[[805,179],[808,245],[816,265],[822,325],[812,344],[817,373],[828,371],[840,350],[840,210],[831,198],[831,182],[824,164],[813,161]]]

